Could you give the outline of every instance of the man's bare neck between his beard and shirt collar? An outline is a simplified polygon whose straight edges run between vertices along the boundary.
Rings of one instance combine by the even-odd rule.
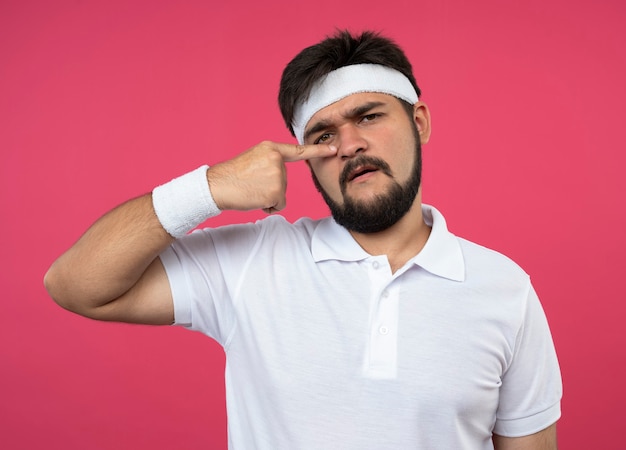
[[[411,209],[391,227],[378,233],[350,234],[370,255],[386,255],[392,272],[396,272],[424,248],[430,236],[422,215],[421,189]]]

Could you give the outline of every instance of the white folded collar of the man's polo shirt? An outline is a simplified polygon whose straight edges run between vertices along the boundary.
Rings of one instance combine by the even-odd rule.
[[[422,251],[407,264],[454,281],[465,279],[465,261],[455,235],[448,231],[443,215],[430,205],[422,205],[426,224],[432,227]],[[361,261],[369,258],[352,235],[332,218],[320,221],[311,240],[311,253],[315,262],[326,260]]]

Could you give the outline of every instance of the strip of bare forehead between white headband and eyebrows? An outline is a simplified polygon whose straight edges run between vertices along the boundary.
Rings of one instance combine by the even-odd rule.
[[[351,94],[313,114],[311,120],[309,120],[306,125],[306,131],[308,132],[320,122],[350,118],[356,113],[364,112],[361,111],[362,108],[368,105],[393,108],[395,106],[400,107],[401,104],[399,99],[389,94],[379,92],[359,92],[357,94]]]

